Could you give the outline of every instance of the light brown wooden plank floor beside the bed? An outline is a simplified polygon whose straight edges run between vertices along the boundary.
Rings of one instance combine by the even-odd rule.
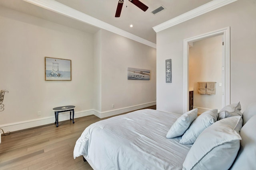
[[[156,106],[147,107],[156,109]],[[95,115],[61,121],[2,136],[0,170],[92,170],[82,157],[74,159],[76,140],[88,125],[102,119]]]

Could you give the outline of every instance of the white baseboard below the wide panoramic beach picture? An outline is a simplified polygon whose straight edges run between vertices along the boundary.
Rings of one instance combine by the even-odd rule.
[[[129,111],[134,111],[134,110],[137,110],[137,109],[142,109],[142,108],[150,107],[150,106],[154,106],[154,105],[156,105],[156,101],[145,103],[145,104],[129,106],[129,107],[122,107],[122,108],[119,108],[119,109],[108,110],[108,111],[94,110],[94,115],[96,115],[99,118],[105,118],[105,117],[114,116],[114,115],[118,115],[118,114],[121,114],[121,113],[126,113],[126,112],[129,112]]]

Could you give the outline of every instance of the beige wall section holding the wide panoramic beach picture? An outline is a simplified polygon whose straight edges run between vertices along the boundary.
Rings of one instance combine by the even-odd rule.
[[[104,63],[101,111],[155,104],[156,49],[102,30],[101,53]],[[150,70],[150,80],[127,80],[128,67]]]

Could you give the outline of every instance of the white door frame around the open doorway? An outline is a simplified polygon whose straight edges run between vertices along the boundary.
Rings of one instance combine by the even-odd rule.
[[[189,107],[189,98],[188,98],[188,57],[189,57],[189,46],[188,43],[214,37],[217,35],[223,35],[223,50],[222,50],[222,70],[224,71],[222,78],[222,86],[223,86],[223,100],[222,107],[230,104],[230,27],[218,29],[216,31],[204,33],[201,35],[197,35],[195,37],[191,37],[188,39],[184,39],[183,41],[183,57],[184,57],[184,113],[188,111]]]

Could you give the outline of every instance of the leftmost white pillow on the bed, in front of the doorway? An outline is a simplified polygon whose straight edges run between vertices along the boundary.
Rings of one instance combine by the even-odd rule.
[[[173,138],[183,135],[184,132],[188,129],[190,124],[196,119],[198,109],[190,110],[183,115],[181,115],[172,125],[166,138]]]

